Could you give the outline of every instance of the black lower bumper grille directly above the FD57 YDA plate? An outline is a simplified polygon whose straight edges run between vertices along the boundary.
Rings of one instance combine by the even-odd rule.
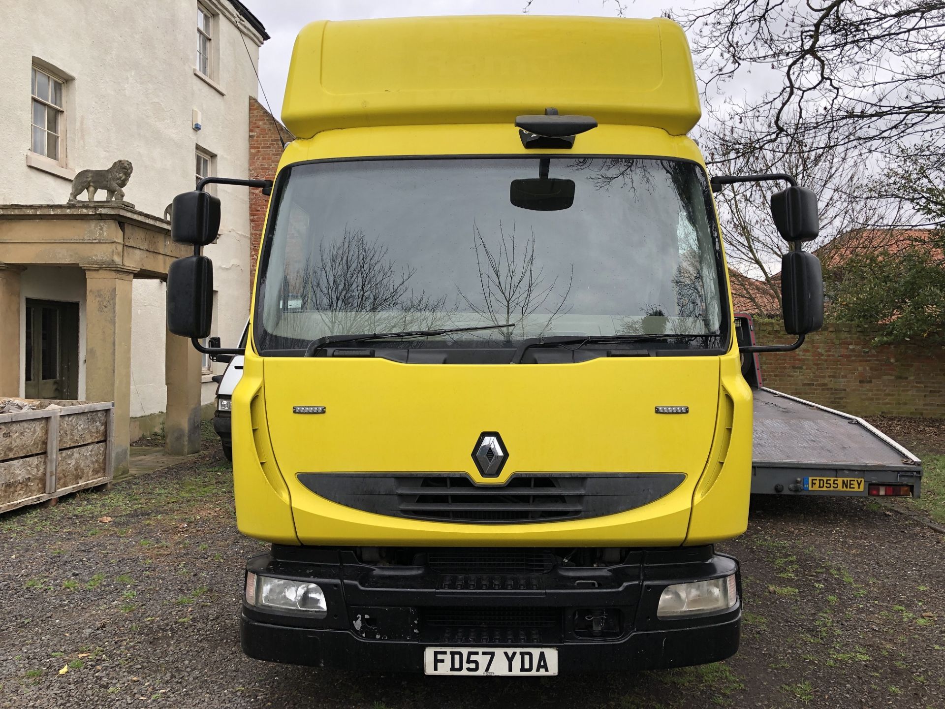
[[[423,636],[444,643],[537,644],[560,638],[561,609],[521,607],[421,609]]]

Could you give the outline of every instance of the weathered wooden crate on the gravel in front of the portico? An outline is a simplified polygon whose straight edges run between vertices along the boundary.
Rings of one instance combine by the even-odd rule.
[[[0,513],[112,481],[112,402],[0,414]]]

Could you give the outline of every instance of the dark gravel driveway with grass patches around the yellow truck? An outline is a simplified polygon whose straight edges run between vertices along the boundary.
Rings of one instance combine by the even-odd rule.
[[[945,537],[872,501],[758,502],[730,661],[546,680],[341,673],[239,649],[246,557],[215,453],[0,518],[0,707],[941,707]],[[369,667],[365,667],[369,670]]]

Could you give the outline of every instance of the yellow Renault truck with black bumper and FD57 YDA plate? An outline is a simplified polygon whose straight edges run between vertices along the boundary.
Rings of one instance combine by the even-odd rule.
[[[710,181],[665,20],[316,22],[274,182],[174,202],[168,327],[206,348],[219,201],[271,191],[232,394],[254,658],[447,675],[738,648],[752,393],[713,188],[780,180],[785,330],[822,323],[816,199]],[[782,346],[780,349],[787,349]]]

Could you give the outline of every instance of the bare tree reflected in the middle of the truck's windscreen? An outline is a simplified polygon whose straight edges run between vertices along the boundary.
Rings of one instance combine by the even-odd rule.
[[[481,318],[496,325],[517,322],[516,332],[524,333],[528,318],[548,303],[540,314],[543,320],[539,331],[541,334],[551,326],[552,320],[570,310],[565,309],[564,304],[571,293],[575,268],[571,267],[568,285],[564,294],[558,298],[555,295],[558,276],[549,285],[544,285],[544,267],[536,260],[534,232],[523,244],[516,237],[514,225],[511,232],[507,233],[500,222],[499,238],[490,247],[479,227],[473,223],[472,250],[478,269],[479,292],[473,297],[458,287],[457,290],[459,297]],[[502,332],[509,339],[512,328],[504,328]]]

